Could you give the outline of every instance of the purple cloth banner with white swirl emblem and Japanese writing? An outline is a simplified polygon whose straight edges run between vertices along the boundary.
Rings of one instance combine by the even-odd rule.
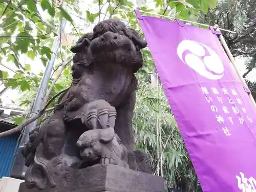
[[[256,191],[256,113],[216,31],[136,14],[203,191]]]

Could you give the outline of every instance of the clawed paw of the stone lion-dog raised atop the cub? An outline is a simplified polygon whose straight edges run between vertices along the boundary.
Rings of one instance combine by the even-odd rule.
[[[116,109],[105,100],[96,100],[87,105],[85,123],[91,129],[105,129],[115,126]]]

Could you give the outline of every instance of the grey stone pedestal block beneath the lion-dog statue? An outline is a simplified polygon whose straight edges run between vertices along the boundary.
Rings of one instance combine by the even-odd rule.
[[[97,165],[79,170],[63,170],[54,177],[57,186],[38,190],[21,183],[19,192],[164,192],[162,177],[136,172],[116,165]]]

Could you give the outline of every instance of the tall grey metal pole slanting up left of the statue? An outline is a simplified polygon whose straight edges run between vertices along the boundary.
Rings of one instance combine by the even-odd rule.
[[[66,20],[61,19],[61,25],[60,26],[61,27],[59,27],[59,29],[58,29],[58,36],[53,42],[52,57],[51,57],[50,60],[48,60],[47,67],[45,69],[45,73],[42,76],[42,79],[41,79],[41,82],[40,82],[40,85],[39,85],[39,88],[38,88],[38,92],[35,96],[35,100],[34,100],[34,103],[32,105],[32,108],[31,108],[30,117],[33,117],[35,114],[39,113],[39,111],[42,107],[42,103],[44,102],[44,98],[45,98],[46,91],[47,91],[47,86],[48,86],[48,83],[49,83],[49,80],[50,80],[50,75],[52,73],[54,62],[55,62],[55,59],[56,59],[56,54],[58,52],[59,45],[60,45],[60,39],[61,39],[60,34],[61,34],[61,31],[63,31],[65,29]],[[11,170],[11,173],[10,173],[10,177],[17,178],[17,179],[24,179],[27,167],[25,166],[25,159],[23,158],[21,152],[23,150],[23,147],[25,146],[25,144],[29,140],[29,132],[36,127],[36,124],[37,124],[37,120],[28,124],[24,128],[24,135],[23,135],[22,139],[20,140],[17,156],[14,160],[13,166],[11,167],[12,170]]]

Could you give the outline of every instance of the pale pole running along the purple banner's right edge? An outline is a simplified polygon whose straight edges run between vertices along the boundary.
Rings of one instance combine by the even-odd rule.
[[[216,31],[221,32],[218,25],[215,25],[214,28],[216,29]],[[230,50],[229,50],[229,48],[228,48],[228,46],[227,46],[227,43],[226,43],[226,41],[225,41],[223,35],[220,35],[220,40],[221,40],[221,43],[222,43],[222,45],[223,45],[225,51],[227,52],[227,55],[228,55],[228,57],[229,57],[229,59],[230,59],[230,61],[231,61],[231,63],[232,63],[231,66],[233,66],[233,68],[236,70],[236,72],[237,72],[237,74],[238,74],[240,80],[241,80],[242,83],[243,83],[244,88],[249,91],[249,88],[248,88],[248,86],[247,86],[247,84],[246,84],[246,82],[245,82],[243,76],[241,75],[240,71],[238,70],[238,68],[237,68],[237,66],[236,66],[236,60],[234,60],[234,57],[233,57],[232,53],[230,52]],[[252,104],[254,105],[254,108],[256,109],[256,103],[255,103],[255,100],[253,99],[251,93],[249,92],[248,95],[249,95],[249,97],[250,97],[250,99],[251,99]]]

